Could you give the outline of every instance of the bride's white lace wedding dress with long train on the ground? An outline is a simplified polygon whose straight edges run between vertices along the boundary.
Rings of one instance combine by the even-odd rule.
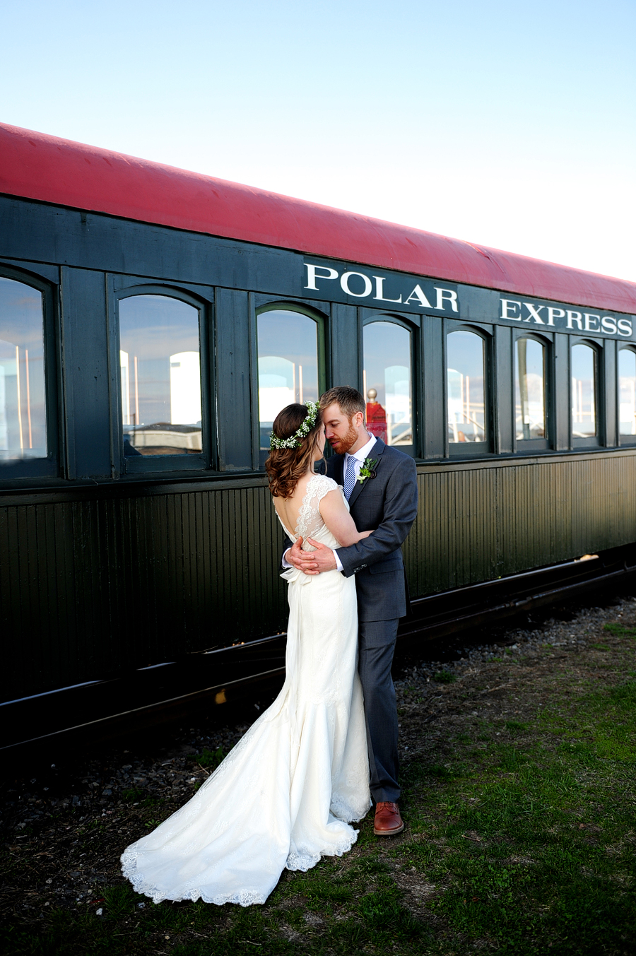
[[[296,525],[303,542],[339,546],[318,511],[338,487],[310,479]],[[350,850],[358,831],[349,824],[371,805],[354,577],[283,577],[287,672],[274,704],[181,810],[121,856],[124,876],[154,902],[263,903],[285,867],[308,870]]]

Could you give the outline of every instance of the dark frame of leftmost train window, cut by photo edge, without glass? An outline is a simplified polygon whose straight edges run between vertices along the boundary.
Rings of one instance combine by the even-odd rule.
[[[33,263],[35,270],[36,264]],[[60,478],[63,455],[62,413],[59,383],[62,380],[59,328],[59,280],[52,282],[29,269],[16,269],[0,262],[0,276],[12,279],[42,294],[42,342],[44,347],[44,395],[46,404],[47,456],[10,460],[0,466],[0,487],[29,479]]]

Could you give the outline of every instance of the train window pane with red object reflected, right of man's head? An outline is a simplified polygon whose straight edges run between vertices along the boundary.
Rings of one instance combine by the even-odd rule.
[[[366,426],[386,445],[413,444],[410,333],[395,322],[364,326]]]

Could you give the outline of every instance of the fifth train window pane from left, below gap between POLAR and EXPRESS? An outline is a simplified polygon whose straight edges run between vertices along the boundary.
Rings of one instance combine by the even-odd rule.
[[[485,442],[484,339],[451,332],[447,339],[449,442]]]

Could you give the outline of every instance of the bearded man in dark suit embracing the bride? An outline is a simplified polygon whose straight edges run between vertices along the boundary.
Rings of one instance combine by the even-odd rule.
[[[374,833],[393,836],[405,825],[398,809],[398,713],[391,663],[398,621],[406,614],[406,579],[401,545],[417,514],[415,462],[366,430],[364,400],[348,385],[320,398],[325,437],[336,454],[327,475],[344,489],[358,531],[374,529],[349,548],[332,551],[309,538],[283,557],[306,574],[338,569],[356,575],[359,619],[359,673],[364,692]]]

